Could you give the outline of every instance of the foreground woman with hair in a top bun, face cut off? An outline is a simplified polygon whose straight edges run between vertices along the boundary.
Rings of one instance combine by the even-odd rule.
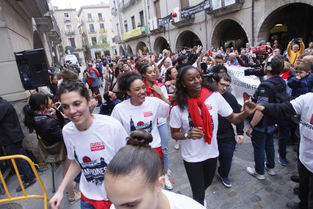
[[[187,196],[164,190],[162,162],[149,146],[151,141],[150,133],[136,130],[111,160],[105,175],[110,209],[204,209]]]

